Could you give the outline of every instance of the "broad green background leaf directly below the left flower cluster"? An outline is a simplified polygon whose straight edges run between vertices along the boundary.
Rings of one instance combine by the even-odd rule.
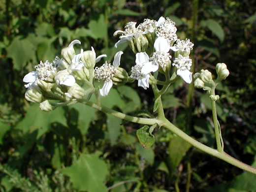
[[[39,104],[32,104],[27,111],[26,117],[19,122],[15,129],[23,130],[24,133],[37,129],[36,138],[40,138],[53,122],[66,126],[63,108],[59,107],[54,111],[44,112],[39,109]]]

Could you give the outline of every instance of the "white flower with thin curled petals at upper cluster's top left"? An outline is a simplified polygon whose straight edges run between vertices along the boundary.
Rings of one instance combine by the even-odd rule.
[[[141,29],[136,28],[135,26],[136,26],[136,22],[129,22],[125,27],[126,29],[125,31],[118,30],[114,32],[114,36],[119,33],[122,34],[122,36],[119,37],[120,40],[115,44],[116,48],[118,45],[122,43],[126,43],[127,41],[131,40],[133,36],[147,33],[147,32],[143,32]]]

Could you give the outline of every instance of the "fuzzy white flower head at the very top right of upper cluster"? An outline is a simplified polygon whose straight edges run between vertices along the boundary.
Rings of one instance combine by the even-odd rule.
[[[156,32],[157,36],[164,37],[169,40],[169,42],[174,42],[177,39],[177,28],[175,27],[175,23],[171,21],[168,17],[164,19],[160,17],[156,26],[158,27],[158,31]]]

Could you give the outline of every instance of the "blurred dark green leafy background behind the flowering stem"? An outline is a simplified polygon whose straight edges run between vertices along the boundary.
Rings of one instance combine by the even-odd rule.
[[[197,24],[193,28],[195,3]],[[24,99],[22,78],[39,61],[52,62],[73,39],[84,50],[114,48],[128,21],[168,16],[178,36],[194,43],[195,72],[213,74],[226,63],[230,76],[218,87],[218,116],[225,151],[256,166],[256,3],[252,0],[0,0],[0,191],[1,192],[253,192],[256,176],[201,153],[163,128],[143,149],[139,125],[75,104],[42,112]],[[200,142],[215,146],[210,101],[204,92],[173,84],[163,96],[166,117]],[[117,87],[102,103],[136,115],[153,110],[151,90]],[[144,113],[145,111],[140,111]],[[184,121],[186,120],[186,121]]]

